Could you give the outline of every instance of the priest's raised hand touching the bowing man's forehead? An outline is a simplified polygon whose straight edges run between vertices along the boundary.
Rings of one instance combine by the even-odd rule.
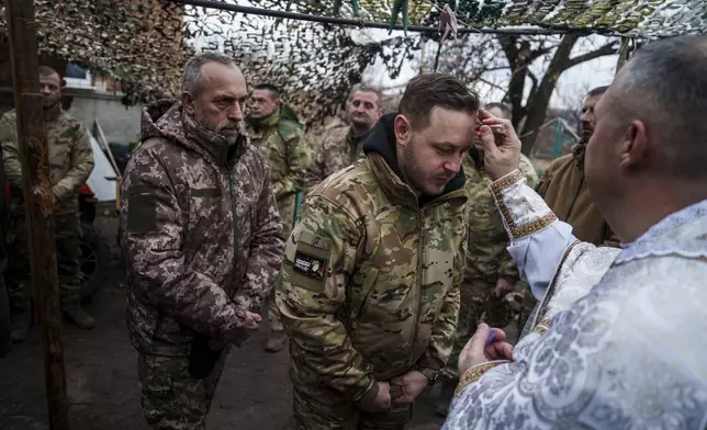
[[[483,154],[484,170],[495,181],[518,168],[520,140],[510,121],[493,116],[483,109],[479,111],[479,120],[482,125],[474,146]]]

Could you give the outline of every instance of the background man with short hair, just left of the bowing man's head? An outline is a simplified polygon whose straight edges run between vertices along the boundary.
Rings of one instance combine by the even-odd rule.
[[[355,88],[346,105],[350,126],[325,133],[307,171],[305,188],[312,191],[328,176],[346,169],[363,157],[363,140],[383,114],[381,93],[367,87]]]

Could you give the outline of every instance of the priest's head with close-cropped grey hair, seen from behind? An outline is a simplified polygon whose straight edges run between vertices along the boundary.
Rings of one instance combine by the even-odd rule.
[[[621,241],[707,199],[707,36],[650,43],[595,108],[587,185]]]

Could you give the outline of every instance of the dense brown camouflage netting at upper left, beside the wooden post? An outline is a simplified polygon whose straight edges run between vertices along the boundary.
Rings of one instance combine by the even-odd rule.
[[[57,56],[115,78],[126,103],[176,93],[193,55],[182,43],[181,7],[160,1],[35,0],[40,55]],[[7,41],[0,20],[0,43]]]

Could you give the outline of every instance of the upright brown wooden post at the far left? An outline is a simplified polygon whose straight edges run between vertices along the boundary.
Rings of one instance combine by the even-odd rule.
[[[68,430],[54,237],[54,194],[49,182],[44,108],[40,94],[34,1],[8,0],[7,7],[24,213],[32,260],[32,285],[36,294],[35,309],[44,331],[44,373],[49,428]]]

